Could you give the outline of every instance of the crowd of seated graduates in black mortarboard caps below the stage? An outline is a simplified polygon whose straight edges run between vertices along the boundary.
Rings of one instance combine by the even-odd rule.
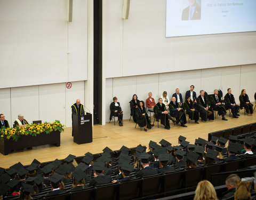
[[[63,159],[63,163],[55,159],[44,167],[41,167],[41,163],[36,159],[28,167],[19,162],[8,170],[0,169],[0,195],[4,199],[13,196],[19,196],[20,199],[27,196],[29,199],[30,196],[36,198],[42,194],[52,196],[70,189],[75,191],[254,155],[256,135],[254,139],[243,140],[231,136],[234,135],[230,135],[228,148],[225,147],[227,139],[222,137],[213,137],[211,142],[198,138],[195,145],[191,145],[180,135],[179,146],[173,147],[164,139],[159,142],[161,146],[150,141],[147,153],[146,147],[139,145],[132,156],[129,155],[129,148],[123,146],[119,158],[115,161],[110,155],[112,150],[106,147],[96,161],[93,161],[93,155],[88,152],[79,164],[76,163],[74,155]]]

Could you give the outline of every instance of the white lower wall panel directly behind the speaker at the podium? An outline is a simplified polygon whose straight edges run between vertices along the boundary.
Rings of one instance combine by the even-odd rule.
[[[81,103],[84,105],[84,81],[72,82],[72,87],[70,89],[65,89],[66,92],[66,126],[72,126],[71,119],[71,106],[76,102],[76,99],[80,99]],[[87,109],[84,105],[84,111]]]

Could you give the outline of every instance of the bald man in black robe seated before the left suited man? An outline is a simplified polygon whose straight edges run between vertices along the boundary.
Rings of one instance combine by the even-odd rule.
[[[177,103],[175,97],[173,97],[172,101],[170,102],[169,110],[171,115],[176,118],[176,124],[180,122],[181,126],[187,127],[185,125],[187,123],[185,111],[183,108],[181,108],[180,103]]]

